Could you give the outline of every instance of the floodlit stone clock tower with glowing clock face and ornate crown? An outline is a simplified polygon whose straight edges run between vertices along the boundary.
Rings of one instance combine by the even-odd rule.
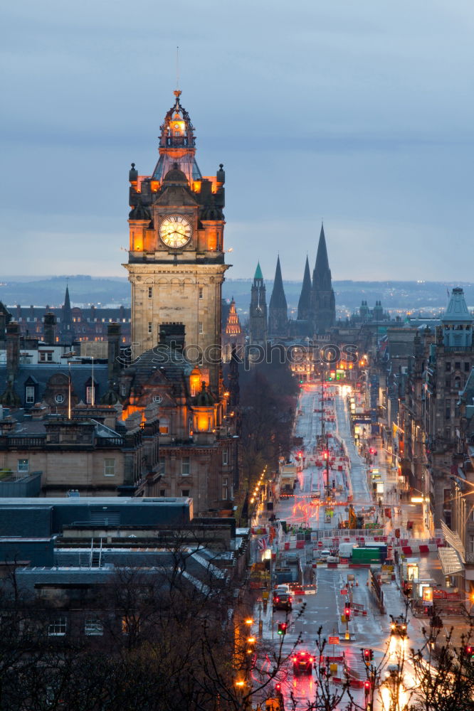
[[[157,346],[164,324],[184,326],[184,354],[221,395],[221,288],[225,173],[203,177],[180,91],[161,126],[152,175],[130,170],[133,355]]]

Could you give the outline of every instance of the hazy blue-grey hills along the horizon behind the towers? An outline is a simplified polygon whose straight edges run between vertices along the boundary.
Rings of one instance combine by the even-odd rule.
[[[242,316],[248,313],[251,294],[250,279],[226,279],[223,297],[230,301],[234,296]],[[117,304],[130,306],[130,284],[127,277],[74,276],[0,277],[0,301],[9,306],[60,306],[64,302],[66,284],[69,285],[71,303]],[[265,281],[267,303],[273,282]],[[301,282],[284,282],[290,315],[294,316],[300,298]],[[453,287],[463,287],[468,306],[474,308],[474,284],[471,282],[333,282],[336,306],[339,315],[352,313],[359,308],[362,299],[372,308],[381,300],[384,309],[390,311],[438,312],[446,308],[448,293]]]

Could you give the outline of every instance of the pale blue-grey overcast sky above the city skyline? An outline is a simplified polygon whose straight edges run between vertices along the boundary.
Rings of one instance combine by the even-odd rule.
[[[0,274],[125,276],[173,103],[226,170],[231,278],[473,279],[473,0],[4,4]]]

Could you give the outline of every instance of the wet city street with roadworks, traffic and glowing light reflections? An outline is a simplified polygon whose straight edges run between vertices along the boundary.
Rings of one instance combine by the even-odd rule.
[[[302,446],[293,453],[295,463],[299,464],[297,484],[294,496],[281,498],[274,512],[277,518],[285,520],[288,530],[309,528],[329,532],[339,529],[342,520],[347,518],[348,501],[351,500],[356,513],[367,514],[367,520],[369,514],[374,518],[379,513],[379,507],[374,506],[369,494],[367,465],[359,455],[351,436],[346,395],[347,389],[344,386],[326,386],[322,404],[320,385],[305,385],[302,388],[294,431],[295,437],[302,437],[303,441]],[[335,464],[330,469],[330,500],[324,498],[328,481],[325,463],[321,461],[320,451],[317,449],[317,438],[322,432],[322,410],[330,456],[335,452],[344,451],[350,462],[349,468]],[[315,492],[319,495],[317,499],[313,496]],[[260,606],[260,618],[263,614],[263,635],[273,639],[274,643],[277,642],[280,639],[278,622],[287,621],[288,631],[283,641],[285,653],[292,653],[297,645],[297,650],[305,650],[315,659],[319,629],[322,638],[337,638],[338,643],[327,644],[324,651],[324,656],[338,660],[334,662],[337,663],[337,668],[332,668],[331,676],[344,679],[344,669],[349,670],[354,680],[351,692],[354,698],[364,705],[364,689],[357,688],[367,679],[361,649],[372,649],[372,663],[376,666],[382,665],[385,670],[388,665],[399,663],[410,648],[423,646],[421,624],[409,614],[408,638],[391,636],[390,615],[396,617],[405,612],[404,597],[398,582],[393,579],[383,584],[386,611],[381,613],[369,586],[367,567],[328,567],[327,563],[321,560],[318,562],[318,554],[319,550],[315,544],[305,545],[300,550],[278,551],[279,562],[283,566],[289,560],[294,562],[295,557],[299,556],[302,582],[315,583],[315,587],[300,586],[304,594],[295,592],[293,610],[289,613],[272,612],[269,604],[269,609],[263,614]],[[348,599],[352,602],[352,611],[350,621],[346,623],[342,622],[342,616]],[[304,611],[300,615],[303,605]],[[349,640],[346,633],[349,633]],[[301,707],[304,707],[307,701],[314,700],[316,673],[313,671],[311,677],[294,675],[291,666],[289,662],[281,673],[283,695],[288,703],[290,695],[293,695],[299,700]],[[383,676],[385,673],[388,672],[382,671]],[[405,663],[404,685],[409,688],[413,683],[413,670]],[[374,709],[382,710],[384,704],[387,707],[388,698],[389,689],[385,687],[381,695],[375,695]],[[403,690],[400,692],[400,698],[404,698]]]

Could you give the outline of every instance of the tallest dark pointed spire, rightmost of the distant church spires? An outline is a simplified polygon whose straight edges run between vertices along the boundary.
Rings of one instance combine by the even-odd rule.
[[[312,272],[312,320],[315,333],[325,333],[336,321],[336,303],[332,289],[331,270],[327,259],[325,229],[321,225],[317,245],[315,270]]]

